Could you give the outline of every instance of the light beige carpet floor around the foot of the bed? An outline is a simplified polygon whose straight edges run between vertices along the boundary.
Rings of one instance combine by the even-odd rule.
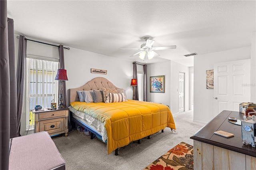
[[[205,124],[194,122],[193,111],[173,115],[176,133],[165,128],[143,138],[141,144],[131,142],[119,148],[118,156],[114,152],[107,154],[106,144],[98,139],[90,139],[78,130],[68,133],[68,136],[53,138],[60,154],[66,160],[66,170],[142,170],[161,155],[180,142],[193,145],[190,139],[195,132]]]

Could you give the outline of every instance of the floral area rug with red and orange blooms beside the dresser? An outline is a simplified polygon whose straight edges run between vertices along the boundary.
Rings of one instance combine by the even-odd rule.
[[[180,142],[144,170],[193,170],[193,146]]]

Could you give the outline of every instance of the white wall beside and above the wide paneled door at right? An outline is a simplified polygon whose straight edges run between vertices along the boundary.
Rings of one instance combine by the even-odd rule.
[[[207,123],[213,118],[213,89],[206,89],[206,70],[214,63],[250,59],[251,47],[194,56],[194,121]]]

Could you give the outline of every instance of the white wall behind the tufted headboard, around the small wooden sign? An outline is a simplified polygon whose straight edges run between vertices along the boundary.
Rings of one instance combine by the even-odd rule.
[[[64,49],[64,57],[68,76],[67,90],[80,87],[95,77],[104,77],[116,87],[125,89],[128,99],[132,99],[132,86],[130,86],[133,77],[132,61],[76,48]],[[91,73],[91,68],[107,70],[107,74]]]

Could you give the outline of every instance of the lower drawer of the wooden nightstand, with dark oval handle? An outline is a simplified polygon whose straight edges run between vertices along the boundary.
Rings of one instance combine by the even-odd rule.
[[[65,117],[40,121],[39,130],[40,132],[47,131],[49,134],[56,133],[56,132],[64,132],[65,131],[64,120],[65,120]]]

